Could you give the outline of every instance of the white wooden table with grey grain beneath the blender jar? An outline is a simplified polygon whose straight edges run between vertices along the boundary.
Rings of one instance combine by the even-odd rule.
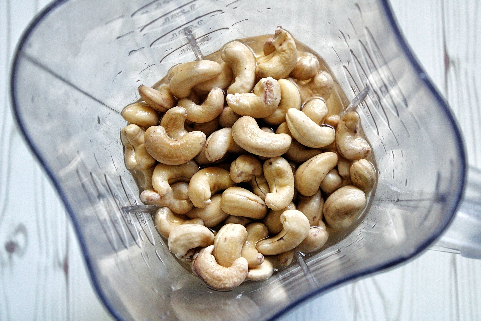
[[[469,163],[481,168],[481,1],[391,2],[405,38],[458,119]],[[11,115],[13,51],[46,4],[0,0],[0,320],[112,320],[90,285],[63,205]],[[480,276],[481,260],[428,250],[282,320],[481,320]]]

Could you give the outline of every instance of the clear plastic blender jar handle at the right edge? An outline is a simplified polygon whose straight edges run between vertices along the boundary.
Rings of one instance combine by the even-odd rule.
[[[481,259],[481,170],[469,167],[464,198],[453,222],[432,249]]]

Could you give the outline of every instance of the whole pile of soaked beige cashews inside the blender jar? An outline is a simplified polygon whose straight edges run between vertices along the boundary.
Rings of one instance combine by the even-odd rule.
[[[220,291],[321,249],[326,223],[351,225],[377,180],[359,116],[328,116],[333,80],[316,56],[284,29],[263,51],[232,41],[217,61],[175,65],[122,112],[140,199],[159,206],[169,250]]]

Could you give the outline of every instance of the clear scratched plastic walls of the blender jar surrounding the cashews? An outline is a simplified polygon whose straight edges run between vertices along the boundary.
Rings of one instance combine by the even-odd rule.
[[[445,228],[462,192],[452,116],[400,41],[386,3],[365,0],[69,0],[38,17],[13,65],[27,140],[66,205],[101,299],[119,320],[268,320],[305,298],[403,262]],[[124,166],[120,111],[170,66],[277,26],[316,51],[357,108],[380,168],[347,237],[265,282],[209,290],[169,253]],[[134,207],[129,207],[134,206]]]

